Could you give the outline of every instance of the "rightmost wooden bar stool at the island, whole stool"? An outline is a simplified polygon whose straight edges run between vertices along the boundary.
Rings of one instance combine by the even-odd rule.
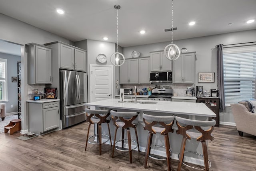
[[[181,134],[183,136],[182,144],[180,147],[178,171],[180,171],[182,164],[193,169],[209,171],[209,168],[211,167],[211,162],[210,160],[208,160],[206,140],[212,141],[214,139],[211,133],[214,130],[214,125],[216,124],[216,121],[215,120],[211,120],[211,121],[190,120],[190,119],[180,118],[178,116],[175,116],[175,119],[176,119],[176,124],[178,126],[178,130],[176,132],[177,134]],[[208,130],[203,130],[201,127],[210,127],[210,128]],[[190,140],[191,138],[194,138],[196,139],[196,141],[199,141],[202,143],[203,155],[198,154],[196,152],[192,152],[192,151],[185,151],[186,140],[187,139]],[[204,168],[196,168],[184,163],[183,162],[184,153],[194,153],[196,155],[200,155],[201,157],[203,157]]]

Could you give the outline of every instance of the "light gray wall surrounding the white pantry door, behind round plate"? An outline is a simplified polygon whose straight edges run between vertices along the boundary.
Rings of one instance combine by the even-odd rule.
[[[80,47],[82,49],[87,50],[87,73],[88,73],[88,102],[90,102],[90,64],[98,64],[96,63],[96,57],[98,54],[102,53],[106,55],[107,62],[103,65],[112,65],[110,62],[111,55],[115,52],[115,43],[110,43],[106,41],[96,41],[96,40],[83,40],[74,42],[76,47]],[[87,45],[87,47],[86,47]],[[119,67],[113,67],[113,73],[116,73],[116,70],[119,73]],[[116,79],[113,77],[113,79]],[[118,75],[119,79],[119,75]],[[113,80],[113,86],[114,86]],[[115,96],[115,91],[113,94],[113,98]]]

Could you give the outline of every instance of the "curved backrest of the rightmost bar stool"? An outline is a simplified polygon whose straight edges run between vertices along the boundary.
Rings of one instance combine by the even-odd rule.
[[[216,124],[215,120],[211,121],[202,121],[202,120],[191,120],[186,118],[181,118],[175,116],[176,124],[178,126],[177,134],[182,134],[184,137],[191,139],[191,137],[186,134],[187,130],[192,129],[193,127],[202,133],[202,136],[198,137],[197,141],[213,140],[214,137],[211,135],[214,130],[214,125]],[[208,130],[203,130],[201,127],[211,127]]]

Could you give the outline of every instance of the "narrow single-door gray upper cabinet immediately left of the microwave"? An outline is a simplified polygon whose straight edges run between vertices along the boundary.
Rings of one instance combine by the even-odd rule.
[[[139,84],[150,84],[150,58],[139,58]]]

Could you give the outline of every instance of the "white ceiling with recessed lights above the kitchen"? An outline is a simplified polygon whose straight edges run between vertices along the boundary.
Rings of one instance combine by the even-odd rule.
[[[0,13],[71,41],[118,42],[122,47],[171,40],[171,0],[0,0]],[[65,10],[57,14],[55,8]],[[174,40],[256,29],[256,0],[174,0]],[[194,26],[189,26],[195,21]],[[228,26],[229,23],[232,23]],[[139,31],[146,33],[141,35]],[[174,42],[175,43],[175,42]]]

